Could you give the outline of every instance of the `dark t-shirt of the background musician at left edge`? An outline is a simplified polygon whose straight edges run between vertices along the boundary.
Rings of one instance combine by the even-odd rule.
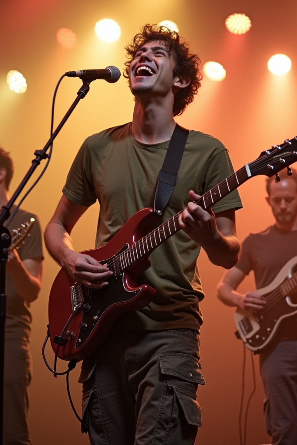
[[[22,261],[29,258],[43,259],[41,228],[36,215],[22,209],[17,210],[8,229],[13,236],[12,230],[18,229],[22,223],[30,221],[30,218],[35,218],[35,222],[29,231],[29,235],[18,248],[18,254]],[[7,296],[5,338],[29,340],[31,332],[30,324],[32,321],[30,307],[29,304],[17,294],[9,273],[6,274],[5,293]]]

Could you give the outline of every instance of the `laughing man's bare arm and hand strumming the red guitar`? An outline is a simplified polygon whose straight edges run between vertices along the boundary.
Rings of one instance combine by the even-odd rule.
[[[90,255],[75,252],[70,236],[74,225],[87,209],[62,195],[45,229],[45,246],[73,279],[89,287],[101,288],[107,286],[106,279],[113,275],[112,272]]]

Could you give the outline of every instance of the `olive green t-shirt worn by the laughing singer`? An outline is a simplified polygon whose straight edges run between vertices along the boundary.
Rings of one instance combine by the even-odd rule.
[[[157,177],[169,141],[138,142],[125,124],[85,140],[69,171],[63,193],[82,206],[100,204],[96,247],[107,243],[138,210],[152,207]],[[233,173],[228,150],[218,139],[191,130],[179,167],[178,181],[159,224],[189,202],[189,190],[203,194]],[[242,207],[237,190],[213,206],[214,212]],[[124,314],[117,329],[199,329],[203,299],[196,259],[200,246],[183,231],[167,239],[150,255],[151,267],[138,278],[156,289],[143,309]]]

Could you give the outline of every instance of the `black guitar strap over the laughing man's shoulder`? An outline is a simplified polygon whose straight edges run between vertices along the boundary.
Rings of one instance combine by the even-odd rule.
[[[183,157],[189,131],[176,124],[172,133],[162,169],[159,171],[154,199],[155,215],[161,216],[177,182],[177,174]]]

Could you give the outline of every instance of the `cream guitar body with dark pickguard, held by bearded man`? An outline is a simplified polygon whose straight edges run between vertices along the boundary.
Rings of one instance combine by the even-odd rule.
[[[263,311],[253,315],[243,309],[236,310],[236,328],[245,346],[251,351],[260,352],[266,348],[282,321],[297,314],[296,270],[297,256],[285,264],[272,283],[257,289],[257,294],[267,298]]]

